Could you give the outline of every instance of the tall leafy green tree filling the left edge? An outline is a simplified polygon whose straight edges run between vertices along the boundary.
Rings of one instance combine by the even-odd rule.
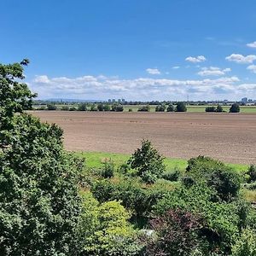
[[[61,128],[23,113],[35,96],[17,82],[27,63],[0,66],[0,254],[75,254],[81,165]]]

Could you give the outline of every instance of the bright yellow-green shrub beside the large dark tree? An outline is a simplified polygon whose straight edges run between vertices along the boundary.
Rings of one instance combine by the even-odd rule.
[[[90,193],[85,193],[79,221],[81,255],[136,255],[140,247],[128,218],[130,214],[119,201],[99,204]]]

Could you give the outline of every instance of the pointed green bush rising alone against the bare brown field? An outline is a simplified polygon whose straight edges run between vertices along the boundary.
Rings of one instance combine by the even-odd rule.
[[[137,170],[137,175],[146,183],[154,183],[166,170],[164,157],[152,147],[148,140],[142,141],[142,147],[131,155],[128,164]]]

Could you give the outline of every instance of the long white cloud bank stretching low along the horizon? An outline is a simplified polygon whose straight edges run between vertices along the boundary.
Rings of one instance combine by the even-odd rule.
[[[30,84],[32,90],[38,92],[39,98],[182,100],[189,94],[191,99],[194,96],[203,100],[206,96],[212,99],[218,99],[219,95],[234,96],[239,82],[236,76],[218,79],[119,79],[88,75],[49,78],[43,75],[37,76]],[[246,90],[241,89],[241,92],[242,96]]]

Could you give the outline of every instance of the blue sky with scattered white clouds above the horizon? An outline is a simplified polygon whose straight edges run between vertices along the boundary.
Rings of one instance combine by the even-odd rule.
[[[39,99],[256,99],[255,0],[0,0]]]

